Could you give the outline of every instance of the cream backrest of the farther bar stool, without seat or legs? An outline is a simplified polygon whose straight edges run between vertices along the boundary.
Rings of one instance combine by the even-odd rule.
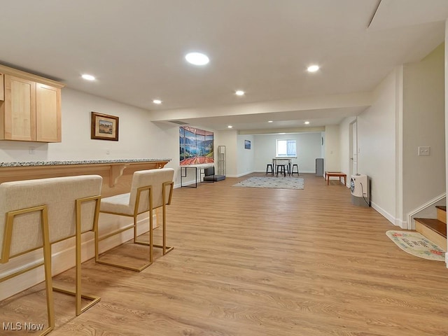
[[[132,176],[131,193],[130,193],[130,207],[135,207],[137,199],[137,189],[141,187],[151,186],[153,190],[153,209],[162,207],[164,204],[162,197],[163,183],[172,182],[174,178],[174,169],[162,168],[162,169],[149,169],[139,170],[134,172]],[[171,190],[171,191],[170,191]],[[172,188],[165,190],[165,204],[168,204],[171,199]],[[149,210],[149,196],[148,190],[144,190],[140,195],[138,213]]]

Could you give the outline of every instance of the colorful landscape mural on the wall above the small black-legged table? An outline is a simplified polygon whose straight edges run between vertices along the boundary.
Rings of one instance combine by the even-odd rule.
[[[181,166],[214,162],[213,132],[188,126],[179,127],[179,144]]]

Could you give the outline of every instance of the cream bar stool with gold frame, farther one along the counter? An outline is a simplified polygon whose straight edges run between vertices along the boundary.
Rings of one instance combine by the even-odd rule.
[[[166,243],[166,206],[171,204],[174,187],[174,169],[150,169],[134,172],[132,176],[130,193],[105,197],[101,200],[100,212],[127,216],[134,219],[131,225],[120,228],[114,232],[99,237],[98,230],[95,233],[95,260],[105,265],[116,266],[132,271],[141,272],[153,263],[153,247],[162,248],[163,255],[172,251],[174,247]],[[162,207],[162,245],[153,244],[153,210]],[[137,216],[145,212],[149,213],[149,241],[137,241]],[[148,245],[148,261],[141,267],[132,267],[120,262],[109,262],[99,258],[99,241],[117,235],[125,230],[134,229],[134,244]],[[103,253],[104,254],[104,253]]]

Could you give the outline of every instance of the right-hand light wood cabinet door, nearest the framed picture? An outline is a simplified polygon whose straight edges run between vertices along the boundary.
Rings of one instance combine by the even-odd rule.
[[[36,141],[61,142],[61,90],[36,83]]]

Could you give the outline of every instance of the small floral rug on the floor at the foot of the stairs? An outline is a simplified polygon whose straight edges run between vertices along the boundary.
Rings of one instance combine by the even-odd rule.
[[[419,232],[387,231],[389,237],[403,251],[429,260],[445,261],[445,252]]]

